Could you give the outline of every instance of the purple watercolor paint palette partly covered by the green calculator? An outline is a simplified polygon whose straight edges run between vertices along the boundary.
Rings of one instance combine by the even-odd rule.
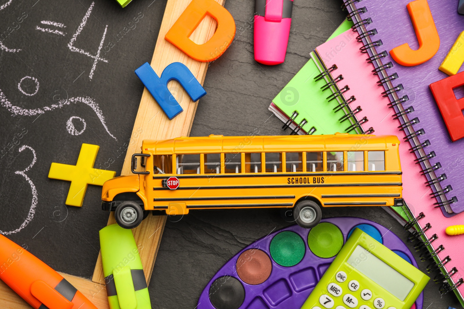
[[[355,217],[321,220],[312,229],[286,227],[256,240],[224,264],[206,285],[197,309],[298,309],[355,227],[417,267],[398,236]],[[423,293],[412,309],[422,309]]]

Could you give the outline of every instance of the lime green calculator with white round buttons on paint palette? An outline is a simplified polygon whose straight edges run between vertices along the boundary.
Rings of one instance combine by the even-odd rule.
[[[356,228],[302,309],[410,309],[429,277]]]

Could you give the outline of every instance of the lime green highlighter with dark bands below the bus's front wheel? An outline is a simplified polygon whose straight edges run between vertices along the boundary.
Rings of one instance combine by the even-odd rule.
[[[132,231],[117,224],[103,227],[100,249],[110,309],[151,309],[142,261]]]

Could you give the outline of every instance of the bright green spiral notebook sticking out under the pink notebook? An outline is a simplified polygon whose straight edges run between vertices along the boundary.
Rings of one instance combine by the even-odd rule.
[[[352,21],[345,20],[328,40],[350,29]],[[269,110],[297,134],[334,134],[335,132],[363,133],[354,126],[356,120],[347,118],[349,105],[343,107],[336,98],[327,98],[321,91],[326,79],[316,80],[321,72],[312,59],[301,68],[290,82],[272,100]],[[335,77],[335,76],[334,76]]]

